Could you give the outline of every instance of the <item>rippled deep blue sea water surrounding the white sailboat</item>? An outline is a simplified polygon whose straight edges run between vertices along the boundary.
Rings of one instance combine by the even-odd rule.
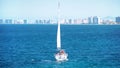
[[[0,68],[120,68],[120,25],[62,25],[62,63],[56,33],[57,25],[0,25]]]

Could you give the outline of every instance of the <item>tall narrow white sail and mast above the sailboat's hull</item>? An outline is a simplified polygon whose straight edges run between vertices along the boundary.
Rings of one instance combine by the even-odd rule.
[[[61,49],[61,35],[60,35],[60,1],[58,1],[58,29],[57,29],[57,49]]]

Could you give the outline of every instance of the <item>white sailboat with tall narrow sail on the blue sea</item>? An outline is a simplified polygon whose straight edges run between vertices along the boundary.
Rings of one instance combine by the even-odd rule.
[[[58,52],[55,54],[56,61],[62,62],[68,60],[68,54],[65,50],[61,49],[61,33],[60,33],[60,2],[58,2],[58,28],[57,28],[57,50]]]

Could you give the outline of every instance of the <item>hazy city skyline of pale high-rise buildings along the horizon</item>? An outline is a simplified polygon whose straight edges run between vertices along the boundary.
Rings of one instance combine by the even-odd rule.
[[[0,19],[0,24],[57,24],[54,19]],[[61,24],[90,24],[90,25],[118,25],[120,17],[112,19],[101,19],[97,16],[77,19],[60,19]]]

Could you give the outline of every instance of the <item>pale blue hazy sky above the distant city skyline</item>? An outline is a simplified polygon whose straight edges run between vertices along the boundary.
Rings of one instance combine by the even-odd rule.
[[[120,16],[120,0],[60,0],[62,18]],[[0,18],[55,18],[58,0],[0,0]]]

